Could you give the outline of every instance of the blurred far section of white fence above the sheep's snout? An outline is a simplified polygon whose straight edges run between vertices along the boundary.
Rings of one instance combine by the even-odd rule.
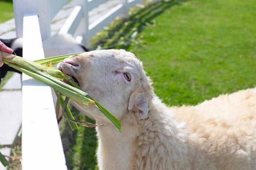
[[[83,44],[86,48],[90,48],[90,40],[96,33],[101,31],[104,26],[109,24],[118,16],[122,19],[128,19],[128,10],[143,1],[145,0],[119,0],[118,4],[115,4],[112,8],[107,9],[108,11],[105,11],[104,15],[90,23],[89,12],[103,3],[111,3],[111,0],[76,0],[76,5],[78,6],[74,8],[74,11],[70,17],[68,17],[67,22],[64,24],[63,29],[61,29],[59,33],[71,33],[74,35],[74,32],[76,31],[75,28],[79,25],[80,31],[77,33],[78,35],[76,35],[76,40],[78,40],[78,42]],[[81,7],[83,9],[81,9]],[[82,18],[81,11],[83,11]],[[81,21],[78,24],[79,20]]]

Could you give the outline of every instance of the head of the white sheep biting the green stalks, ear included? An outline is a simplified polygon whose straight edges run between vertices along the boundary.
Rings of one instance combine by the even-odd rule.
[[[143,119],[153,88],[142,63],[125,50],[96,50],[73,55],[58,69],[75,77],[79,86],[117,119],[127,113]],[[108,121],[95,107],[78,104],[96,120]]]

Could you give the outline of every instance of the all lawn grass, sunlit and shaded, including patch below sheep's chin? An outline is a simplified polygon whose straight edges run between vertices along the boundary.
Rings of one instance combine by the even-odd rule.
[[[92,48],[132,51],[163,102],[195,105],[256,86],[255,9],[254,0],[143,3],[130,10],[129,20],[106,26],[92,39]],[[92,121],[74,108],[73,113]],[[68,168],[96,170],[94,128],[72,132],[66,123],[60,130]]]

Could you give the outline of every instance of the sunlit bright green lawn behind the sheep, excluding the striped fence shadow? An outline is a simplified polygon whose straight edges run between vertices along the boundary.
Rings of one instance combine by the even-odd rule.
[[[155,93],[168,104],[197,104],[254,87],[255,7],[253,0],[192,0],[157,16],[141,32],[147,45],[134,51]]]

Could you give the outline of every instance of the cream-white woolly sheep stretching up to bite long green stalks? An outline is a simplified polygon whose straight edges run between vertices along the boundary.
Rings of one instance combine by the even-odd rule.
[[[122,123],[95,107],[99,170],[256,170],[256,88],[197,106],[167,107],[135,55],[90,51],[58,64]]]

